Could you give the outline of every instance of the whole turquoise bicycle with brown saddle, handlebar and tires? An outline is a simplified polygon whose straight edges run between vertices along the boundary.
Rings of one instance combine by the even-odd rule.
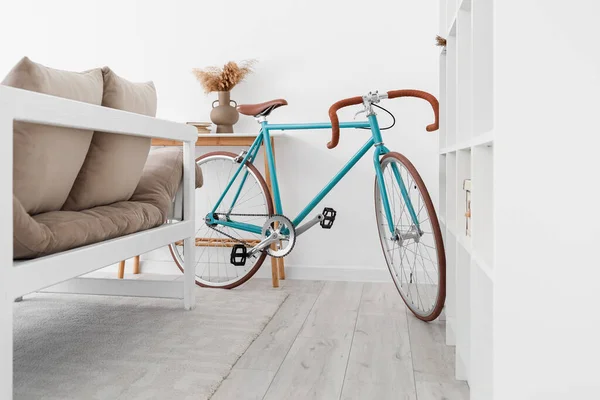
[[[241,114],[253,116],[261,125],[254,143],[240,154],[217,151],[196,160],[204,176],[204,186],[196,196],[197,284],[227,289],[239,286],[254,275],[267,255],[285,257],[290,254],[298,237],[310,228],[319,225],[331,229],[336,219],[333,208],[326,207],[306,219],[358,160],[373,148],[375,216],[392,279],[418,318],[424,321],[437,318],[445,301],[446,260],[435,209],[412,163],[385,147],[381,131],[387,128],[380,129],[375,113],[375,109],[389,113],[379,103],[397,97],[427,100],[433,107],[435,122],[426,129],[438,129],[438,101],[419,90],[375,92],[338,101],[329,109],[329,123],[268,123],[267,117],[273,110],[287,105],[283,99],[238,106]],[[362,105],[361,112],[366,113],[367,120],[339,122],[337,111],[351,105]],[[289,218],[281,204],[269,133],[331,129],[332,139],[327,147],[333,149],[338,144],[340,129],[351,128],[370,129],[371,138],[295,218]],[[253,164],[263,144],[272,193]],[[170,249],[183,270],[183,246],[174,243]]]

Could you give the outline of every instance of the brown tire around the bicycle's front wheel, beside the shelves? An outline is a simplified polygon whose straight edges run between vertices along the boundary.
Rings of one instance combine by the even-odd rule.
[[[415,312],[413,312],[413,314],[415,315],[415,317],[417,317],[421,321],[431,322],[440,316],[442,309],[444,308],[444,303],[446,301],[446,252],[444,250],[444,241],[442,239],[442,231],[440,229],[440,223],[437,219],[437,213],[435,212],[435,208],[433,207],[433,202],[431,201],[431,197],[429,196],[427,187],[425,186],[425,183],[423,182],[421,175],[419,175],[419,172],[417,172],[417,169],[415,168],[415,166],[408,160],[408,158],[406,158],[402,154],[396,153],[394,151],[389,152],[386,155],[384,155],[380,160],[380,164],[382,164],[388,158],[394,158],[394,159],[400,161],[406,167],[406,169],[410,172],[410,174],[412,175],[412,177],[415,180],[415,184],[417,185],[417,187],[419,188],[419,191],[421,192],[421,195],[423,196],[423,201],[425,202],[425,206],[427,207],[427,212],[429,213],[429,220],[431,221],[431,228],[433,230],[433,236],[435,238],[435,243],[436,243],[436,248],[437,248],[437,258],[438,258],[438,266],[439,266],[438,267],[439,268],[438,298],[437,298],[437,303],[436,303],[433,311],[431,312],[431,314],[429,314],[427,316],[419,315]],[[375,201],[377,202],[377,177],[375,177]],[[381,249],[385,254],[386,250],[383,248],[383,241],[381,240],[381,231],[379,229],[377,229],[377,231],[379,232],[379,236],[380,236],[379,242],[381,243]],[[387,264],[387,258],[386,258],[386,264]],[[390,273],[391,273],[391,267],[389,264],[388,264],[388,269],[390,270]],[[392,280],[393,280],[393,278],[392,278]],[[395,281],[394,281],[394,285],[395,285]],[[402,293],[400,292],[400,289],[398,288],[398,286],[396,286],[396,289],[398,290],[398,293],[400,293],[400,295],[402,296]],[[412,309],[410,308],[410,306],[404,299],[404,296],[402,296],[402,300],[404,300],[404,302],[406,303],[406,306],[412,311]]]

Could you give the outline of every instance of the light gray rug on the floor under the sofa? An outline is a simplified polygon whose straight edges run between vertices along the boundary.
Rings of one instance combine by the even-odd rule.
[[[208,399],[287,295],[181,301],[37,294],[15,304],[16,399]]]

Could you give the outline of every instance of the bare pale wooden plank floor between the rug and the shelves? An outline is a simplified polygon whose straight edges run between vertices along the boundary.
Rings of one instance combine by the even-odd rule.
[[[407,313],[393,284],[252,279],[289,297],[212,400],[467,400],[443,321]]]

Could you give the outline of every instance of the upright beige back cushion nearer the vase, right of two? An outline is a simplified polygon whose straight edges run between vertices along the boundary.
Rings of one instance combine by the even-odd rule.
[[[152,82],[129,82],[102,68],[102,105],[154,117],[156,90]],[[63,210],[78,211],[129,200],[150,150],[150,138],[94,132],[90,150]]]

